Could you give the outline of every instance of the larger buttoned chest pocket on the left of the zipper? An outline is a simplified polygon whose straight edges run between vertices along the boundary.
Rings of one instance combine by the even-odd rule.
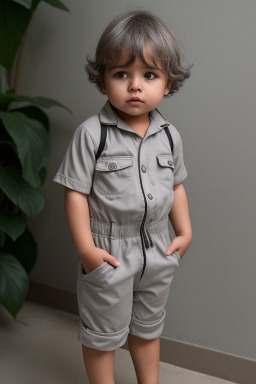
[[[100,157],[95,166],[95,187],[102,195],[123,196],[131,184],[132,156]]]

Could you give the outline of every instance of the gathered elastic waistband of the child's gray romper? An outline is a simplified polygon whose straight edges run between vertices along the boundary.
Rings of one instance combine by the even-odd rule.
[[[152,221],[144,227],[149,233],[161,233],[168,229],[168,217],[161,221]],[[90,218],[91,231],[94,235],[106,236],[111,238],[125,238],[140,235],[141,223],[116,225],[115,223],[103,223]]]

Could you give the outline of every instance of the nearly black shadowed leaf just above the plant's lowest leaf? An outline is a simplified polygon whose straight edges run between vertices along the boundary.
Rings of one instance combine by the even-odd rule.
[[[37,243],[28,229],[15,242],[7,238],[4,251],[15,256],[30,274],[37,259]]]

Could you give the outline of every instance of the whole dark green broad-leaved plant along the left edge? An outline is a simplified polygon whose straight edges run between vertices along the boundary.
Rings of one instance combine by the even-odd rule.
[[[68,11],[59,0],[43,1]],[[40,187],[46,179],[50,141],[42,108],[66,108],[52,99],[17,92],[24,36],[40,2],[0,1],[0,304],[14,318],[26,298],[37,257],[27,223],[44,206]]]

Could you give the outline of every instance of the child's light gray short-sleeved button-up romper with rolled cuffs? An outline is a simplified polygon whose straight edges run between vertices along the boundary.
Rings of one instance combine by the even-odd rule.
[[[107,137],[96,161],[101,124]],[[173,186],[186,176],[180,135],[157,110],[150,112],[144,138],[109,102],[76,129],[54,181],[88,194],[95,245],[120,262],[104,262],[88,274],[78,262],[78,338],[87,347],[108,351],[122,346],[128,333],[143,339],[161,335],[180,261],[177,252],[166,256],[168,215]]]

